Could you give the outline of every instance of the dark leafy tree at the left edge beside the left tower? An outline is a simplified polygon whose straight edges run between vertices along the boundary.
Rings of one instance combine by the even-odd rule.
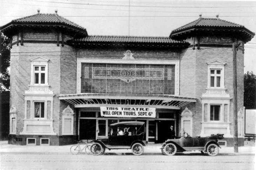
[[[7,36],[1,33],[0,38],[0,91],[8,91],[10,88],[10,49],[11,45]]]

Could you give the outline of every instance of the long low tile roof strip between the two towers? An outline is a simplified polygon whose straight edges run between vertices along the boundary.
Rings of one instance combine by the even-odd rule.
[[[154,36],[111,36],[111,35],[88,35],[85,38],[73,39],[76,42],[126,42],[126,43],[187,43],[176,41],[169,37]]]

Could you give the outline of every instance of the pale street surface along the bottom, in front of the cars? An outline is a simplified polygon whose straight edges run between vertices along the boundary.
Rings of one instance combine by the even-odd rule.
[[[253,170],[253,155],[176,154],[155,155],[65,155],[65,154],[1,154],[0,169],[21,170]]]

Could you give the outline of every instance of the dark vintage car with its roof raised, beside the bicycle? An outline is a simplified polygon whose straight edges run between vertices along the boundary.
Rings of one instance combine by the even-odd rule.
[[[93,140],[90,151],[93,155],[104,154],[105,149],[132,149],[134,155],[144,152],[144,122],[129,121],[109,125],[108,137]]]

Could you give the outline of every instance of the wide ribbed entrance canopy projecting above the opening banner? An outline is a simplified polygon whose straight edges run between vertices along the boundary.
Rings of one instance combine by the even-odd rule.
[[[174,95],[156,94],[107,94],[107,93],[80,93],[59,95],[59,100],[65,100],[76,108],[100,106],[155,107],[166,109],[180,109],[196,98]]]

